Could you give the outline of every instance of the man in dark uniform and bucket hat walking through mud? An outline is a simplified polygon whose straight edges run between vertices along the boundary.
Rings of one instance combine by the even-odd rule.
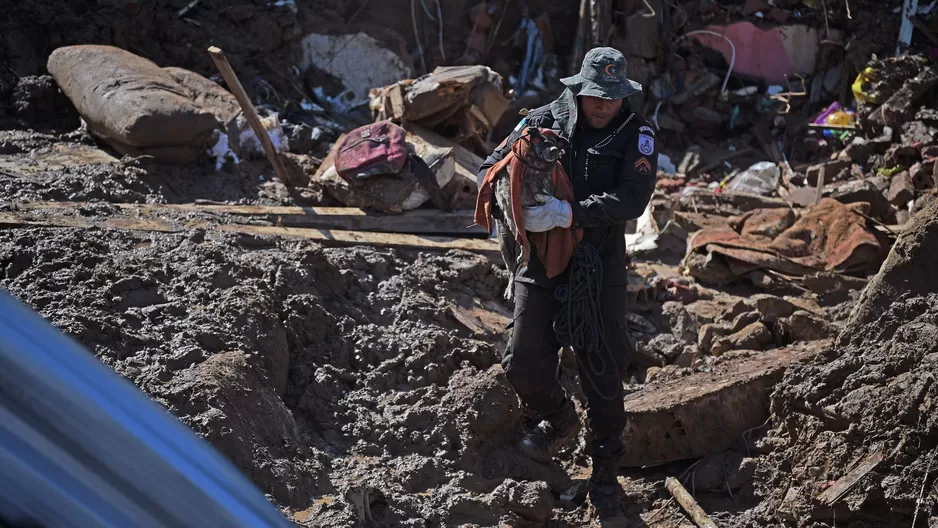
[[[567,86],[563,94],[529,112],[505,146],[485,160],[479,178],[507,154],[525,127],[551,128],[570,142],[562,164],[575,200],[552,198],[526,208],[524,222],[532,232],[582,228],[582,243],[595,248],[602,263],[598,328],[604,330],[605,347],[574,351],[592,433],[590,502],[602,526],[625,526],[616,500],[621,493],[617,461],[625,451],[622,376],[632,358],[625,320],[625,223],[641,216],[651,199],[658,153],[654,129],[628,102],[642,88],[626,76],[625,57],[618,50],[590,50],[580,73],[561,82]],[[548,279],[536,253],[515,274],[514,320],[502,365],[521,402],[542,419],[526,432],[520,447],[531,458],[546,461],[575,438],[580,422],[557,377],[562,343],[554,331],[561,308],[555,288],[567,284],[570,267]]]

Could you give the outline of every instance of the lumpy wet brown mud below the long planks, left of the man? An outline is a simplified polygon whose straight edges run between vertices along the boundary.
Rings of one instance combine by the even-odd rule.
[[[509,447],[522,416],[502,327],[455,315],[510,313],[482,257],[14,229],[0,285],[303,524],[520,526],[569,482]]]

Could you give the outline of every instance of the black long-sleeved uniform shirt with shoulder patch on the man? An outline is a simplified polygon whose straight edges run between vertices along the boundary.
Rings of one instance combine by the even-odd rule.
[[[599,250],[607,285],[625,285],[625,223],[645,211],[655,190],[658,151],[654,129],[624,104],[609,125],[594,129],[577,121],[576,97],[570,90],[554,102],[532,110],[512,135],[526,126],[551,128],[570,142],[562,164],[570,175],[575,200],[571,202],[573,227],[583,228],[583,240]],[[504,158],[514,138],[482,164],[479,180]],[[518,269],[515,280],[556,286],[566,274],[547,278],[544,265],[531,252],[530,263]]]

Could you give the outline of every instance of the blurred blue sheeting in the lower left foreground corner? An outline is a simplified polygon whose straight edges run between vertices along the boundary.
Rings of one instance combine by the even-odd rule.
[[[220,452],[0,291],[0,524],[289,527]]]

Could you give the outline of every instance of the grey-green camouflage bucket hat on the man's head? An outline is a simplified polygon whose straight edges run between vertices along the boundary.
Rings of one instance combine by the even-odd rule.
[[[628,78],[625,55],[615,48],[593,48],[583,58],[580,73],[564,77],[574,95],[601,99],[625,99],[642,91],[642,85]]]

